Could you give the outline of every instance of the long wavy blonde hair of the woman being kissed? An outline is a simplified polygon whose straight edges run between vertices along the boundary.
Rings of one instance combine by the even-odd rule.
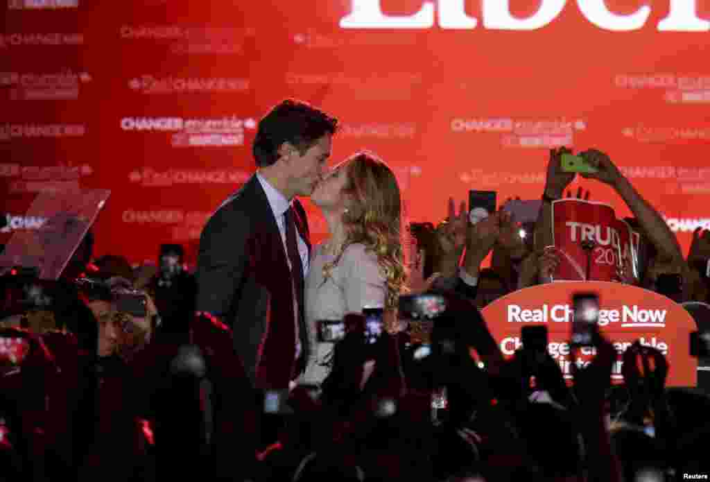
[[[355,153],[346,165],[347,183],[343,223],[346,241],[331,263],[323,267],[327,280],[345,249],[362,243],[366,251],[375,253],[380,273],[386,280],[385,308],[395,308],[405,290],[407,274],[403,263],[401,231],[402,202],[397,178],[377,155],[366,151]]]

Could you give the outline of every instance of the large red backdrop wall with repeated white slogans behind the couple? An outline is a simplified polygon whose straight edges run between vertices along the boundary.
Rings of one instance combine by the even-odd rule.
[[[710,0],[672,1],[710,19]],[[488,28],[473,0],[448,0],[478,20],[466,29],[442,27],[439,4],[422,0],[4,0],[0,192],[12,222],[0,242],[31,228],[22,216],[37,192],[104,188],[97,255],[141,262],[177,242],[192,258],[204,220],[254,170],[255,122],[297,97],[342,122],[333,163],[368,148],[397,170],[411,219],[440,219],[469,189],[536,199],[550,146],[594,146],[687,249],[710,218],[710,27],[659,30],[672,1],[606,0],[617,16],[650,7],[633,31],[595,25],[572,0],[501,1],[518,19],[564,4],[511,31]],[[356,4],[436,16],[430,28],[342,28]]]

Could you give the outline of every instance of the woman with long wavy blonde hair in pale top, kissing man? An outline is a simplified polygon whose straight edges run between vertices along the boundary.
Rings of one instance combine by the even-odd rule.
[[[364,307],[394,311],[406,274],[399,186],[376,155],[356,153],[337,165],[318,183],[311,200],[323,212],[330,238],[314,248],[305,280],[313,349],[302,381],[320,385],[333,345],[317,343],[316,322],[342,319]]]

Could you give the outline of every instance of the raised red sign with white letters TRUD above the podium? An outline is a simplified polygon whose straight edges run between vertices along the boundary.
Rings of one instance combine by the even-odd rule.
[[[583,199],[552,202],[552,235],[559,252],[555,280],[613,281],[633,256],[633,233],[611,206]]]

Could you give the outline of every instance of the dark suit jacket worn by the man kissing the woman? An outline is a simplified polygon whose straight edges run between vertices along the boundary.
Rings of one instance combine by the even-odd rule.
[[[305,210],[297,200],[293,208],[295,217],[299,218],[296,220],[299,234],[310,255]],[[302,303],[302,293],[297,296],[301,297]],[[256,175],[229,197],[204,226],[197,258],[196,310],[211,312],[231,326],[234,349],[241,356],[252,385],[267,388],[263,386],[265,380],[259,379],[263,378],[263,370],[258,368],[264,366],[260,359],[261,344],[266,340],[270,326],[273,331],[275,320],[293,323],[295,318],[291,275],[283,241]],[[310,352],[306,330],[305,319],[300,317],[302,351],[296,373],[305,369]],[[280,367],[287,371],[293,368],[295,354],[288,347],[295,341],[280,339],[278,342],[285,347],[277,351],[283,359],[271,359],[268,365],[278,366],[281,373],[278,378],[283,383]],[[273,388],[287,388],[288,377],[292,374],[288,373],[286,386]]]

